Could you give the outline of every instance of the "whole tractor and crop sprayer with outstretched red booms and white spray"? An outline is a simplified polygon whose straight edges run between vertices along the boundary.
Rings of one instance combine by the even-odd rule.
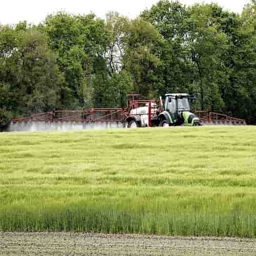
[[[160,99],[140,99],[127,95],[126,108],[57,110],[13,119],[2,131],[70,131],[127,127],[170,127],[200,125],[241,125],[244,119],[208,111],[191,111],[195,97],[185,93],[165,94]]]

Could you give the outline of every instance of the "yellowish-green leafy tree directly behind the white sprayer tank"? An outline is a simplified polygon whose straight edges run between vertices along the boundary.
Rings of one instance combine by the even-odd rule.
[[[134,92],[142,97],[154,94],[157,89],[161,44],[163,38],[153,25],[142,18],[132,20],[125,37],[123,69],[132,75]]]

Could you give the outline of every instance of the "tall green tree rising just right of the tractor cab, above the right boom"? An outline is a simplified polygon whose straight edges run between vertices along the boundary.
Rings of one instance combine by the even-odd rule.
[[[189,8],[187,45],[195,66],[194,83],[198,85],[201,109],[221,110],[222,87],[229,78],[226,58],[230,47],[229,37],[214,17],[219,8],[215,4],[194,5]]]

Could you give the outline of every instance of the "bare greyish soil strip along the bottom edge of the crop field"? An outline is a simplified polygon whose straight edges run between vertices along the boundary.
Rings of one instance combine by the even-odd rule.
[[[1,255],[256,255],[256,239],[0,232]]]

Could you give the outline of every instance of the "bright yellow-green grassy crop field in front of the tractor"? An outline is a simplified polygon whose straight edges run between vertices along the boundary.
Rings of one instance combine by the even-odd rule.
[[[0,230],[256,237],[256,127],[0,134]]]

